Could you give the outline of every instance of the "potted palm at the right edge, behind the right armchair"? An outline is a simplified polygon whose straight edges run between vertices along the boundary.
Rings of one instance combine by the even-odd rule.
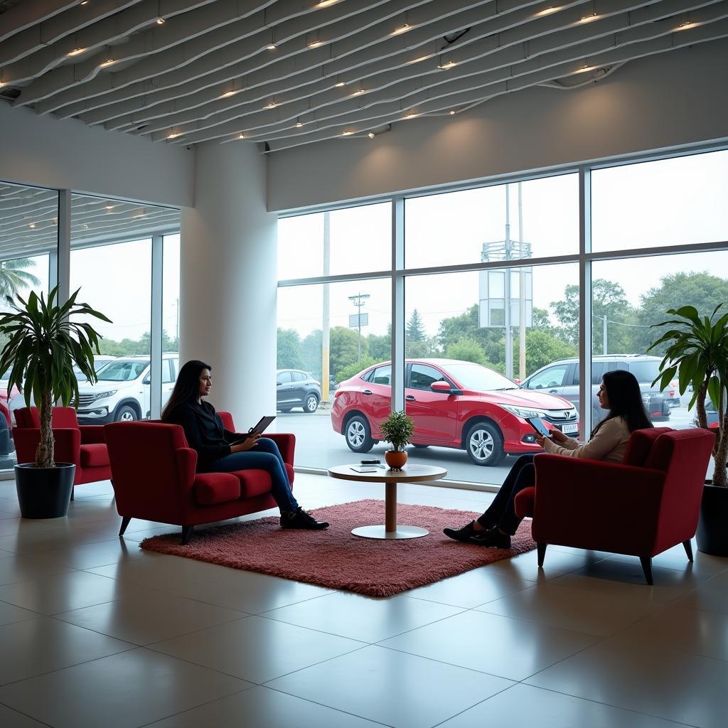
[[[653,384],[660,381],[660,389],[665,389],[677,374],[681,397],[692,384],[688,408],[695,405],[698,427],[708,428],[706,397],[710,397],[718,414],[718,427],[712,430],[716,433],[713,478],[705,481],[697,526],[698,549],[716,556],[728,556],[728,313],[720,314],[723,305],[702,319],[694,306],[669,309],[673,318],[654,326],[671,328],[649,347],[667,345],[660,376]]]

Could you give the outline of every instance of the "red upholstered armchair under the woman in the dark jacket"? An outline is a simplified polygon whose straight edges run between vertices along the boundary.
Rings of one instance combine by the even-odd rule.
[[[232,416],[218,412],[227,430],[235,430]],[[182,543],[194,526],[225,521],[276,507],[265,470],[195,472],[197,453],[188,446],[178,424],[116,422],[104,427],[116,510],[122,517],[119,536],[132,518],[172,523],[182,527]],[[275,441],[293,484],[296,437],[266,435]]]

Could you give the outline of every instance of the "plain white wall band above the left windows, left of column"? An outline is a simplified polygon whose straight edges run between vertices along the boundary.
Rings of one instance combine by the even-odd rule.
[[[194,154],[0,102],[0,180],[192,205]]]

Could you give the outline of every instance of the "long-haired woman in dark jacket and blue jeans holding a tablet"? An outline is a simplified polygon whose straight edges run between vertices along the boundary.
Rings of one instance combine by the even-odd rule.
[[[280,508],[280,525],[284,529],[320,530],[325,521],[316,521],[293,497],[278,446],[260,433],[230,432],[223,427],[215,408],[202,397],[210,394],[210,366],[192,360],[180,369],[169,402],[162,412],[162,422],[178,424],[189,446],[197,452],[197,472],[232,472],[265,470],[271,477],[271,495]]]

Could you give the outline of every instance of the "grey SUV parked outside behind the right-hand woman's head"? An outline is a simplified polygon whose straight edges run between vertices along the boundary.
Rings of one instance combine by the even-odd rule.
[[[606,411],[599,406],[596,396],[601,378],[606,371],[615,369],[626,369],[636,376],[650,419],[655,422],[670,419],[670,404],[668,403],[670,397],[666,397],[665,392],[660,392],[657,384],[652,386],[652,382],[660,373],[661,361],[660,357],[650,357],[644,354],[607,354],[592,357],[593,424],[600,422],[606,416]],[[552,395],[565,397],[579,409],[579,360],[576,358],[561,359],[548,364],[526,377],[521,386],[524,389],[545,391]]]

